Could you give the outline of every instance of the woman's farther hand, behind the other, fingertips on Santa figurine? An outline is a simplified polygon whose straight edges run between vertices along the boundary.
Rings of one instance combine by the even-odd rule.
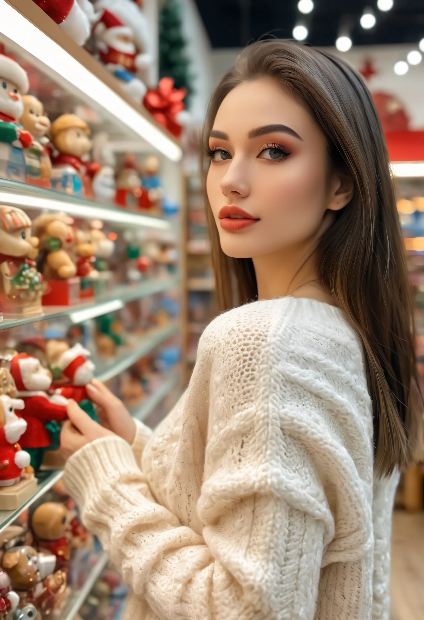
[[[90,400],[97,405],[96,415],[102,427],[108,428],[131,445],[136,433],[136,423],[123,402],[97,379],[87,384],[86,389]]]

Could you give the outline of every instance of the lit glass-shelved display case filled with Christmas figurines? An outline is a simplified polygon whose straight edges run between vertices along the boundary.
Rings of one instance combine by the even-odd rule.
[[[4,604],[72,620],[110,569],[63,487],[60,426],[71,397],[95,418],[93,377],[151,427],[180,395],[182,148],[32,0],[0,0],[0,45],[0,570],[19,595]],[[11,547],[45,563],[37,595]]]

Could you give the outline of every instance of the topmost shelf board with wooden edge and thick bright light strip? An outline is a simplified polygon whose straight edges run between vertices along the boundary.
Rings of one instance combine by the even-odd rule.
[[[77,45],[32,0],[0,0],[0,33],[7,46],[25,57],[66,91],[118,125],[132,138],[143,139],[171,161],[179,161],[179,141],[121,89],[119,82],[84,48]]]

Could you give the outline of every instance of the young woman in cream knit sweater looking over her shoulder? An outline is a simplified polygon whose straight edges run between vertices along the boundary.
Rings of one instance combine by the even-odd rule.
[[[104,427],[69,405],[66,485],[131,585],[126,618],[388,619],[420,401],[371,95],[337,58],[255,43],[214,91],[205,148],[218,299],[241,305],[154,433],[99,382]]]

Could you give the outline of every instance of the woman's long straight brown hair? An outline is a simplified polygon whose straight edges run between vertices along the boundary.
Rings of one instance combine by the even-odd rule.
[[[262,77],[285,85],[306,105],[327,137],[330,169],[343,170],[355,185],[352,200],[320,239],[317,265],[335,304],[363,342],[374,407],[374,468],[390,474],[412,461],[422,400],[412,294],[378,114],[360,76],[339,58],[278,39],[257,42],[242,51],[213,92],[205,153],[224,97],[240,82]],[[255,299],[255,270],[252,259],[224,254],[207,197],[206,205],[216,294],[224,310],[234,305],[234,288],[238,303]]]

